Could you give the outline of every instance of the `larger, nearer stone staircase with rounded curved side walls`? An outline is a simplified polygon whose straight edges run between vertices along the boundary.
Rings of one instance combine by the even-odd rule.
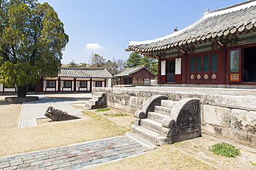
[[[136,111],[134,125],[131,126],[131,132],[127,132],[127,136],[132,136],[134,140],[138,136],[139,140],[144,138],[154,145],[174,143],[201,136],[199,100],[192,98],[180,101],[166,99],[167,96],[149,98],[149,102],[143,105],[143,109]],[[154,100],[158,100],[158,102],[154,102]]]

